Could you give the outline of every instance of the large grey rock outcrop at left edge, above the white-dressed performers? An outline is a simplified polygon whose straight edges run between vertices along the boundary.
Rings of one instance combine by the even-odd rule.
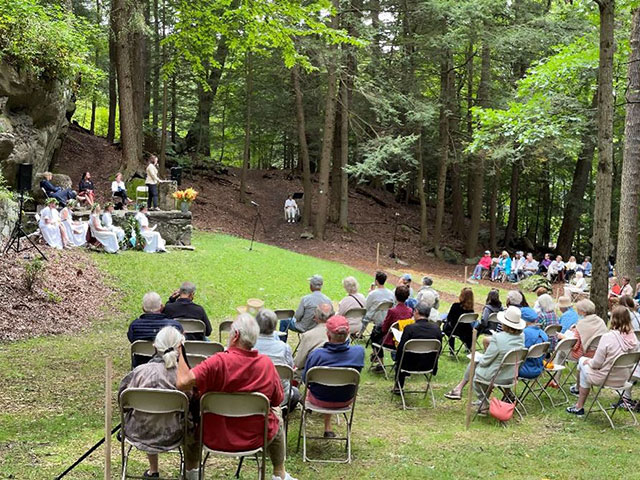
[[[35,174],[49,169],[74,110],[60,82],[37,81],[0,63],[0,171],[9,186],[16,186],[18,165],[31,163],[38,188]]]

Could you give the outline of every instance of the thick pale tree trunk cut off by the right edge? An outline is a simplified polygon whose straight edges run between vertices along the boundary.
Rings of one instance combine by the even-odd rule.
[[[627,85],[616,270],[618,276],[629,277],[635,288],[640,200],[640,9],[633,11]]]

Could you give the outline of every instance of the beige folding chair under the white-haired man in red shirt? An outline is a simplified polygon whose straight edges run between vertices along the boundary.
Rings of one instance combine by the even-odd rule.
[[[222,457],[240,458],[254,457],[258,463],[258,474],[261,480],[265,478],[266,470],[266,447],[269,442],[269,399],[262,393],[257,392],[241,392],[241,393],[222,393],[222,392],[209,392],[205,393],[200,399],[200,413],[202,415],[202,421],[200,422],[200,444],[202,449],[200,451],[200,478],[204,477],[204,469],[210,455],[218,455]],[[224,450],[214,450],[209,448],[203,440],[204,437],[204,424],[206,414],[215,414],[222,417],[229,418],[243,418],[260,415],[264,417],[264,427],[262,430],[262,445],[253,450],[246,450],[241,452],[227,452]],[[202,454],[205,454],[204,459]],[[238,473],[240,473],[240,467],[242,462],[238,465]]]

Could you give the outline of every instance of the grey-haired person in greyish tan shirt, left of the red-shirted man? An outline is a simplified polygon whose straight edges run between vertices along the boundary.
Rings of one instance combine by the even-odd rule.
[[[122,379],[118,398],[127,388],[155,388],[160,390],[176,389],[176,370],[180,347],[184,337],[173,327],[162,328],[155,337],[155,354],[148,363],[136,367]],[[191,391],[186,392],[191,398]],[[198,476],[198,440],[195,423],[189,408],[187,419],[187,438],[185,439],[185,479],[197,480]],[[168,452],[182,444],[184,418],[179,413],[152,415],[135,410],[125,411],[125,432],[127,440],[137,449],[146,452],[149,469],[144,477],[159,477],[158,454]]]

